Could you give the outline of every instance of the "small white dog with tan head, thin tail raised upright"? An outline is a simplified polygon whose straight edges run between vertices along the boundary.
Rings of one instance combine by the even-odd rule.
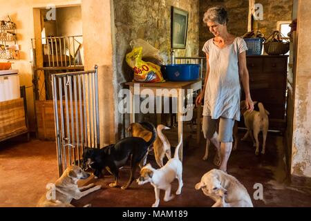
[[[171,158],[160,169],[154,169],[151,164],[147,164],[140,170],[140,177],[137,182],[139,185],[150,182],[154,187],[156,193],[156,202],[152,207],[158,207],[160,202],[160,189],[165,191],[164,201],[167,202],[174,198],[174,195],[171,195],[171,182],[178,179],[178,189],[176,195],[180,195],[182,191],[182,162],[179,160],[178,151],[182,144],[182,135],[180,136],[180,142],[175,149],[174,157]]]

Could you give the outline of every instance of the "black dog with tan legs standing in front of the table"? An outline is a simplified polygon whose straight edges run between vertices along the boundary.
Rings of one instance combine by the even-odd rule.
[[[109,186],[114,187],[118,186],[120,167],[130,160],[131,176],[126,186],[122,186],[122,189],[127,189],[135,180],[135,171],[144,157],[147,157],[149,146],[153,144],[155,139],[156,128],[153,126],[149,142],[144,141],[140,137],[126,137],[116,144],[111,144],[101,149],[85,148],[83,153],[84,167],[85,165],[90,166],[97,177],[100,177],[103,169],[107,169],[115,177],[115,182],[109,184]]]

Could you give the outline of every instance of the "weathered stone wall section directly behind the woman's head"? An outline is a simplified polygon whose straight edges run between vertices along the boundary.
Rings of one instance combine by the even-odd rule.
[[[204,13],[208,8],[214,6],[224,6],[229,14],[228,30],[233,35],[241,36],[247,32],[248,23],[248,8],[249,3],[247,0],[211,0],[200,1],[200,55],[205,56],[201,51],[205,41],[211,39],[213,35],[207,29],[206,24],[203,22]]]

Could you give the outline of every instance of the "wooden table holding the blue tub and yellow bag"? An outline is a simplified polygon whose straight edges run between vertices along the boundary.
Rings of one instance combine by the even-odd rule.
[[[166,81],[164,83],[144,83],[144,82],[127,82],[126,85],[129,86],[131,90],[130,95],[130,123],[135,122],[135,95],[149,95],[151,91],[155,97],[176,97],[177,98],[177,122],[178,122],[178,140],[182,139],[182,106],[184,104],[184,99],[187,95],[192,92],[201,90],[202,80],[196,81]],[[161,92],[161,93],[160,93]],[[171,93],[169,93],[171,92]],[[162,110],[161,110],[162,111]],[[140,113],[137,112],[136,113]],[[201,115],[201,106],[198,106],[197,114],[197,141],[199,142],[200,137],[200,115]],[[182,141],[183,144],[183,141]],[[182,160],[182,146],[180,146],[179,151],[180,159]]]

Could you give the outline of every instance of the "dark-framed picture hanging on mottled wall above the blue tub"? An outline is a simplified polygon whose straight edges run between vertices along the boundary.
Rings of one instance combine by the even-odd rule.
[[[171,48],[186,48],[188,12],[171,7]]]

